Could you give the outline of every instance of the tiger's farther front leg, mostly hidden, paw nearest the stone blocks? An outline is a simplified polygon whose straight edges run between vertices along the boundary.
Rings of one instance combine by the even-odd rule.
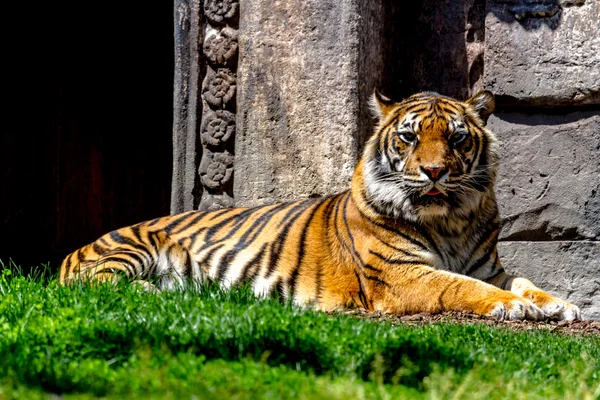
[[[579,307],[544,292],[529,279],[509,275],[503,270],[498,276],[488,282],[532,301],[544,311],[547,318],[567,321],[581,319]]]

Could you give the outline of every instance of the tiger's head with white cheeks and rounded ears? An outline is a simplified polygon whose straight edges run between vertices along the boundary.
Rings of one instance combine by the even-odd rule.
[[[396,103],[375,91],[379,118],[362,157],[364,199],[387,217],[428,222],[469,217],[492,196],[496,138],[485,128],[494,96],[461,102],[434,92]]]

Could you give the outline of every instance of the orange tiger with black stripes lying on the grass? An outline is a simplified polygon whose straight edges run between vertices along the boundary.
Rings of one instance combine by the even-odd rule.
[[[581,319],[576,305],[500,263],[499,146],[486,128],[494,95],[420,92],[395,102],[374,90],[370,108],[374,133],[347,191],[123,227],[66,256],[60,284],[245,284],[324,312]]]

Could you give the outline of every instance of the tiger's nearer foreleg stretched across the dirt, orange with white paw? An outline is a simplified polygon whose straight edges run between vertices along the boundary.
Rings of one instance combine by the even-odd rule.
[[[520,295],[464,275],[427,266],[386,271],[371,288],[373,308],[393,314],[469,311],[508,320],[541,320],[545,313]]]

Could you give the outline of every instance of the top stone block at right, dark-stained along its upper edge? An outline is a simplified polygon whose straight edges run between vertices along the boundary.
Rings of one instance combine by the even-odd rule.
[[[600,2],[488,5],[485,86],[500,103],[600,104]]]

